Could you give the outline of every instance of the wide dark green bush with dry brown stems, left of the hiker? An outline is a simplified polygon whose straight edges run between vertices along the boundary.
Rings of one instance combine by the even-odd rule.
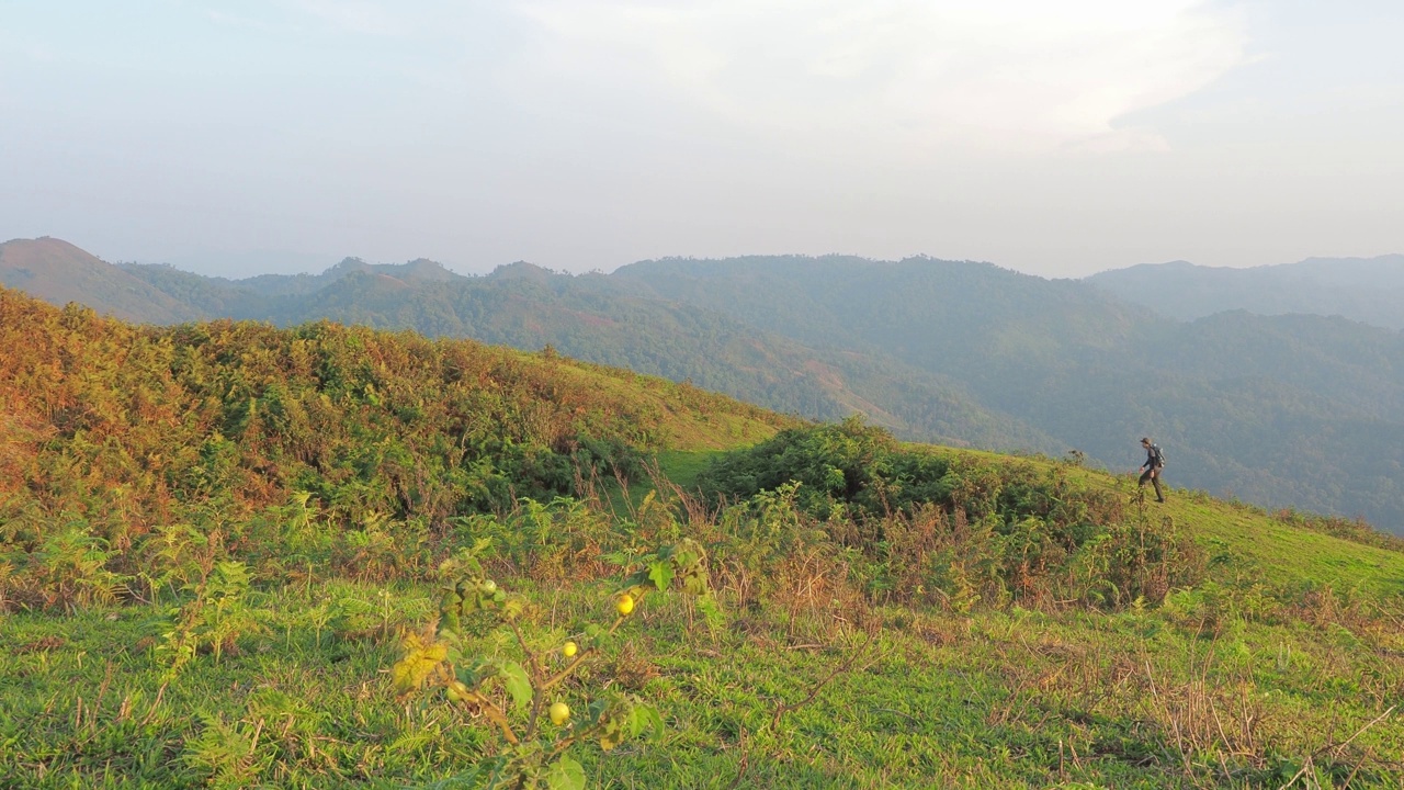
[[[1127,513],[1116,495],[1070,470],[904,450],[849,417],[730,453],[699,485],[713,506],[792,503],[799,522],[769,527],[768,545],[783,555],[782,533],[793,540],[804,524],[820,529],[865,558],[863,585],[883,600],[1122,607],[1158,602],[1202,574],[1202,558],[1174,529]],[[774,522],[764,509],[754,517]],[[754,552],[754,534],[730,531]]]

